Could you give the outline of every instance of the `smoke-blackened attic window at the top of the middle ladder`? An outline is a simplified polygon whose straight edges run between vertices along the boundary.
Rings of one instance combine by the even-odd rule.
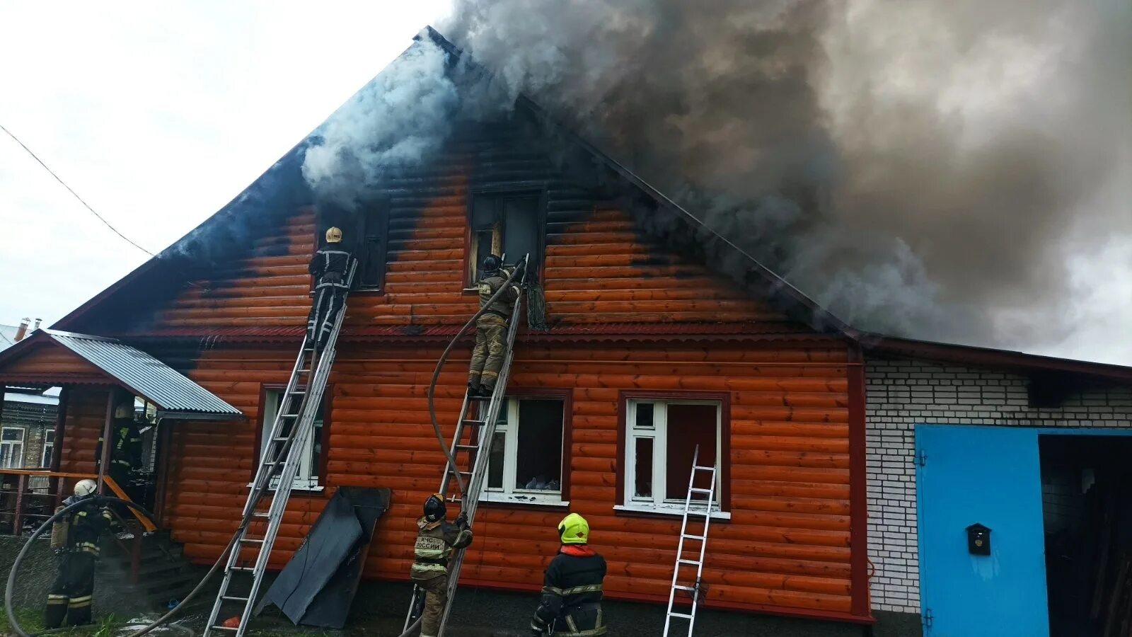
[[[542,197],[539,193],[492,193],[472,197],[469,219],[471,240],[468,250],[468,284],[474,286],[489,254],[517,263],[531,255],[531,271],[542,264]]]

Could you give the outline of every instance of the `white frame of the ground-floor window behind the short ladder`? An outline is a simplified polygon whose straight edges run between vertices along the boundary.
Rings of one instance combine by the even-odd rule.
[[[650,404],[652,408],[652,428],[637,427],[636,409],[640,404]],[[715,408],[715,499],[712,502],[712,518],[730,519],[731,515],[722,510],[722,465],[723,460],[723,405],[719,400],[664,400],[652,398],[629,398],[625,410],[625,492],[624,504],[615,510],[640,511],[653,513],[684,515],[687,491],[680,494],[666,493],[668,483],[668,406],[669,405],[706,405]],[[652,440],[652,498],[636,495],[636,441]],[[692,467],[685,469],[688,477]],[[678,495],[675,498],[674,495]],[[727,516],[727,517],[723,517]]]

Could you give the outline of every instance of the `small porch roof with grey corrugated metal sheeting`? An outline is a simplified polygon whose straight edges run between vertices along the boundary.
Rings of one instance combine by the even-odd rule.
[[[36,347],[62,348],[80,359],[76,359],[80,367],[34,372],[26,376],[29,383],[118,384],[156,405],[163,418],[229,421],[245,417],[235,407],[145,351],[118,339],[91,334],[37,330],[0,353],[0,380],[20,382],[26,373],[9,367]]]

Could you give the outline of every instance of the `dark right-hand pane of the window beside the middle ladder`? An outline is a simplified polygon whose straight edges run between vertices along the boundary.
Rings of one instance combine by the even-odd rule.
[[[515,489],[561,491],[563,401],[518,401]]]

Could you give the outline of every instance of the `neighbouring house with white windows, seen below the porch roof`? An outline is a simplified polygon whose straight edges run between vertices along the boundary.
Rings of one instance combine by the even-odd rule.
[[[8,388],[0,413],[0,468],[51,467],[54,451],[59,388],[46,391]]]

